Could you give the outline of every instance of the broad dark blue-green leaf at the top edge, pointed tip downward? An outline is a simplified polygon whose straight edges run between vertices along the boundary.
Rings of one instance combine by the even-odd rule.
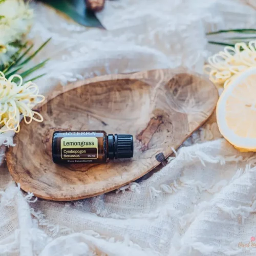
[[[41,0],[47,5],[65,13],[75,22],[86,27],[104,28],[95,14],[86,9],[84,0]]]

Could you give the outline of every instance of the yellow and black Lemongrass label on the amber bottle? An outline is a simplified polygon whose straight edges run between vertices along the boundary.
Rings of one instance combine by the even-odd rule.
[[[62,159],[97,159],[98,139],[96,137],[64,137],[60,142]]]

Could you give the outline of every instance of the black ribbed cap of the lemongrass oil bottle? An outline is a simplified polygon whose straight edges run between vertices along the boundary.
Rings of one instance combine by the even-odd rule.
[[[133,157],[133,135],[109,134],[109,158],[131,158]]]

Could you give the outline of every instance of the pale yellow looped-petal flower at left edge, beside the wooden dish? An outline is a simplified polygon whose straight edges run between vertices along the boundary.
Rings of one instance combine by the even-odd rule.
[[[0,71],[0,133],[6,131],[19,132],[20,114],[26,123],[32,120],[42,122],[42,116],[33,111],[35,104],[45,100],[38,94],[38,87],[29,81],[23,84],[20,75],[12,75],[8,79]]]

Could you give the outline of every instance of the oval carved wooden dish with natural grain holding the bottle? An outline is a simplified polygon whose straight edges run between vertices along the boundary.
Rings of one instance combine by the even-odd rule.
[[[7,164],[15,182],[39,198],[67,201],[130,183],[159,165],[214,111],[214,84],[184,70],[108,75],[56,88],[37,107],[44,122],[21,123]],[[132,134],[134,158],[105,164],[54,164],[55,130]]]

